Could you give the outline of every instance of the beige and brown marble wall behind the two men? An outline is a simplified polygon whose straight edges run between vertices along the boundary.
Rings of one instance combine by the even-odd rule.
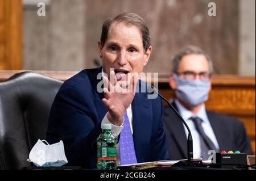
[[[245,0],[250,3],[254,0]],[[217,16],[208,16],[208,3],[215,2]],[[255,75],[254,39],[246,26],[255,21],[255,6],[241,0],[52,0],[46,16],[37,16],[37,7],[23,11],[24,69],[81,70],[96,67],[97,41],[102,22],[122,11],[141,15],[150,28],[153,52],[147,72],[168,73],[170,58],[187,44],[205,50],[218,74]],[[254,2],[255,3],[255,2]],[[245,7],[244,7],[245,6]],[[250,10],[247,10],[247,9]],[[247,14],[247,11],[251,11]],[[253,15],[254,17],[251,17]],[[253,27],[252,27],[253,28]],[[242,30],[242,31],[241,31]],[[243,38],[241,38],[243,37]],[[250,55],[249,58],[247,55]],[[244,71],[245,70],[245,71]],[[247,71],[246,71],[247,70]]]

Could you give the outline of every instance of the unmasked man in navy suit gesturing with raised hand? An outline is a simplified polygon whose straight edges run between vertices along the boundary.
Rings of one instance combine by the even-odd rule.
[[[121,135],[118,164],[168,159],[162,100],[148,99],[147,92],[126,91],[127,85],[134,87],[137,81],[139,88],[143,85],[137,75],[130,80],[127,75],[143,71],[151,50],[149,31],[140,16],[123,13],[105,20],[98,42],[102,68],[82,70],[65,81],[49,116],[47,140],[63,140],[69,165],[96,168],[96,139],[104,123],[112,124],[116,137]],[[101,88],[97,85],[102,85],[102,73],[108,75],[102,76],[109,85],[104,93],[97,90]],[[119,144],[125,138],[130,139],[126,140],[129,145]]]

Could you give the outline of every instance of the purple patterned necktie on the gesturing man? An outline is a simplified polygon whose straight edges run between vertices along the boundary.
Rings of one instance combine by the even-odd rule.
[[[137,163],[133,143],[133,134],[131,134],[130,122],[126,112],[123,119],[124,128],[120,133],[119,139],[120,162],[121,165]]]

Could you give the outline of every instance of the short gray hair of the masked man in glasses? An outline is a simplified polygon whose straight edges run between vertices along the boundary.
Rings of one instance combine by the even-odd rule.
[[[212,60],[210,60],[208,54],[206,54],[201,48],[194,45],[185,46],[174,57],[172,57],[172,73],[177,73],[181,59],[188,54],[203,54],[209,62],[210,74],[213,73]]]

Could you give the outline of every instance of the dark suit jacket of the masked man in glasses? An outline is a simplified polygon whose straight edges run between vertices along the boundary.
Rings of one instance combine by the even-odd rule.
[[[177,110],[175,102],[172,102],[172,106]],[[207,116],[220,150],[239,150],[241,153],[252,154],[250,140],[241,121],[212,111],[207,111]],[[164,130],[170,159],[187,158],[187,137],[184,126],[170,107],[164,107]]]

